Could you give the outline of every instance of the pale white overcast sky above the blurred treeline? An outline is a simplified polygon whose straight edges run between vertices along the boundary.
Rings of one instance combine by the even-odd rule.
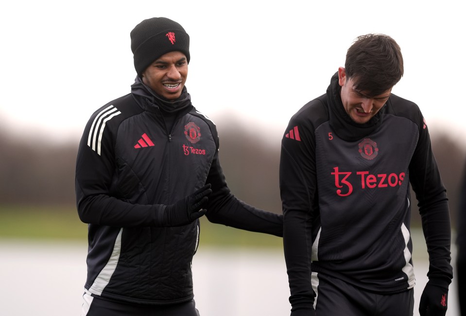
[[[457,0],[7,1],[1,124],[18,136],[79,138],[94,110],[130,91],[130,31],[167,17],[190,35],[186,85],[214,122],[241,115],[244,128],[280,139],[290,117],[325,93],[353,40],[383,33],[405,62],[393,93],[420,106],[431,133],[463,139],[464,12]]]

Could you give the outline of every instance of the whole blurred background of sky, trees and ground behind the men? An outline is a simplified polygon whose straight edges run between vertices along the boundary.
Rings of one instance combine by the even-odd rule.
[[[176,20],[190,35],[186,86],[194,106],[217,124],[230,189],[277,213],[280,142],[288,120],[325,93],[358,35],[391,35],[405,62],[393,93],[417,103],[426,118],[449,195],[454,241],[466,161],[460,99],[464,9],[449,0],[2,4],[0,278],[8,286],[0,297],[5,315],[79,315],[87,227],[75,207],[78,142],[97,108],[130,92],[136,72],[129,33],[142,19],[157,16]],[[281,239],[204,219],[201,225],[193,261],[201,315],[287,315]],[[412,227],[417,299],[428,263],[415,206]],[[453,282],[447,315],[457,315],[455,293]]]

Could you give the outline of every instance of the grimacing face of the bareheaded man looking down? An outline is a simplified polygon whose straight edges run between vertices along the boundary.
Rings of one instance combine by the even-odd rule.
[[[338,83],[342,87],[340,95],[343,107],[351,120],[363,124],[369,122],[387,102],[392,89],[377,96],[368,96],[365,91],[356,90],[353,78],[346,76],[345,68],[338,68]]]

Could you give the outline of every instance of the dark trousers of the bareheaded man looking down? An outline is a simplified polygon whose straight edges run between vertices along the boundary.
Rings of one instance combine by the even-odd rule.
[[[317,291],[315,286],[317,285]],[[318,316],[413,316],[414,289],[380,295],[323,274],[312,274]]]

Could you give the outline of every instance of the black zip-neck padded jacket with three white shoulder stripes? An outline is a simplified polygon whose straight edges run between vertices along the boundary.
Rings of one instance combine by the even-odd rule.
[[[180,108],[171,129],[162,104]],[[89,224],[88,293],[145,304],[192,299],[199,220],[162,227],[158,216],[164,205],[206,183],[212,189],[206,208],[211,222],[282,235],[282,215],[230,193],[218,149],[215,125],[191,105],[186,88],[168,104],[137,80],[132,93],[91,116],[76,161],[78,214]]]

